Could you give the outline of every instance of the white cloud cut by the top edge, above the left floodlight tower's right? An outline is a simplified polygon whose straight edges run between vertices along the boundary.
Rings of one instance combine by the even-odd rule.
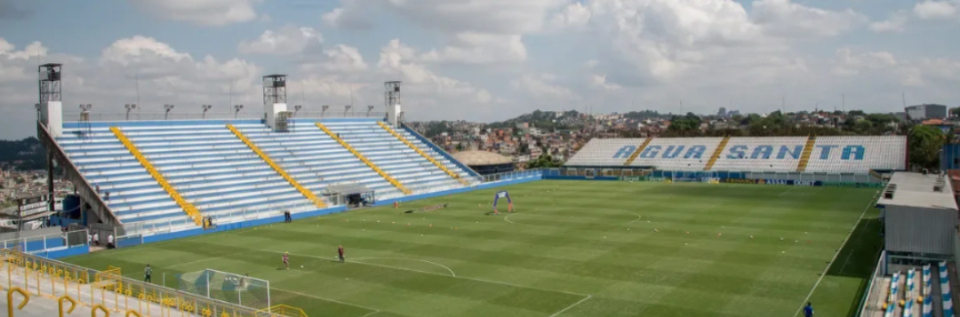
[[[197,25],[224,26],[256,19],[255,3],[262,0],[131,0],[144,11]]]

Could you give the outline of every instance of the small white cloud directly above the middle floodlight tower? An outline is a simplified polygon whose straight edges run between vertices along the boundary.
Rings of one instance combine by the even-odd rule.
[[[324,36],[313,28],[285,26],[277,31],[267,30],[254,40],[244,40],[238,45],[243,54],[291,56],[312,47],[319,47]]]

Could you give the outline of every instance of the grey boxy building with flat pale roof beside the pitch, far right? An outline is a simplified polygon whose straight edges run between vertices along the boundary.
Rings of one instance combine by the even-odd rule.
[[[888,265],[954,260],[958,213],[945,175],[895,172],[876,207]]]

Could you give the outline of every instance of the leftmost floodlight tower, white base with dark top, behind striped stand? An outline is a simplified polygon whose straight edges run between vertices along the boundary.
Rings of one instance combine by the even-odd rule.
[[[62,64],[49,63],[39,65],[40,117],[36,118],[47,126],[52,137],[63,134],[63,101],[60,99],[60,68]]]

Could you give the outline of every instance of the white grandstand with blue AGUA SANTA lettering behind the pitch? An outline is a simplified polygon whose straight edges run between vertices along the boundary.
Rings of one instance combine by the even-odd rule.
[[[906,170],[906,137],[594,139],[565,166],[826,173]]]

